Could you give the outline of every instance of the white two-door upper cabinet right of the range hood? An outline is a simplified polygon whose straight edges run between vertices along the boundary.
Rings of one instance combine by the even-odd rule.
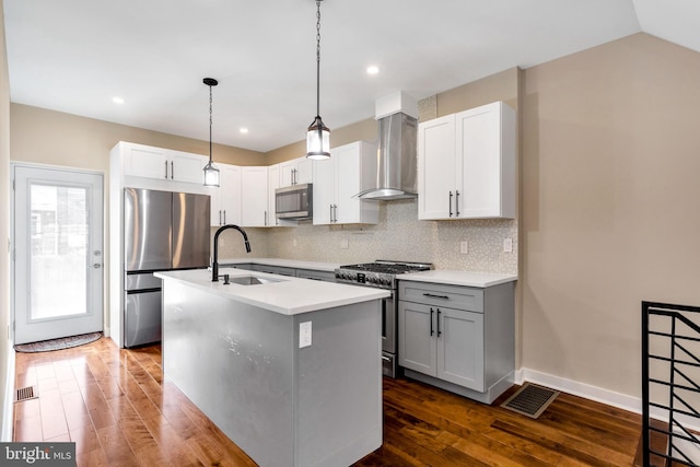
[[[515,218],[515,110],[502,102],[418,127],[418,219]]]

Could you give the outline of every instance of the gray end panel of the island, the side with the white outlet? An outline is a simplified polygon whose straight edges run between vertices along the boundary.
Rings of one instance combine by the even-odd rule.
[[[298,466],[348,466],[382,445],[381,301],[295,316]],[[300,324],[312,345],[299,348]]]

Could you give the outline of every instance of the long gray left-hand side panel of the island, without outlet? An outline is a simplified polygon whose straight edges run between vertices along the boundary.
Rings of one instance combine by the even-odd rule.
[[[163,373],[260,466],[294,457],[293,319],[163,281]]]

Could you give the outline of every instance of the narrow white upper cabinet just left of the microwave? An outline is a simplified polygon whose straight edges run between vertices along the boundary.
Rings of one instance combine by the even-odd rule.
[[[268,206],[268,167],[241,167],[241,225],[265,227],[270,221],[275,224],[273,213]]]

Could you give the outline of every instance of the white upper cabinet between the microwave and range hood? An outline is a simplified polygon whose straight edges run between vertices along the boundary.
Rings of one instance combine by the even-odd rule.
[[[314,224],[376,224],[378,203],[354,195],[374,183],[376,145],[357,141],[330,150],[330,160],[313,162]]]

